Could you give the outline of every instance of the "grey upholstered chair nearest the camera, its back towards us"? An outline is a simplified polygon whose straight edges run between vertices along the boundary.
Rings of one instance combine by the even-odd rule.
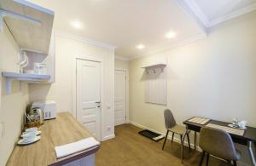
[[[200,132],[199,146],[203,150],[200,165],[202,164],[206,153],[207,165],[210,154],[215,157],[220,157],[228,163],[233,161],[234,165],[236,165],[236,161],[241,157],[241,153],[236,151],[231,136],[221,129],[202,128]]]

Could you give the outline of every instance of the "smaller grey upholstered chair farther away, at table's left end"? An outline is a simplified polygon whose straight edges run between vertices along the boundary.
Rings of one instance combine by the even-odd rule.
[[[169,132],[172,132],[172,141],[173,141],[174,134],[177,134],[177,135],[180,135],[180,141],[182,143],[183,142],[182,138],[183,138],[183,135],[185,134],[185,131],[186,131],[185,127],[177,125],[177,123],[176,123],[176,121],[175,121],[175,119],[172,115],[171,110],[166,109],[165,112],[164,112],[164,115],[165,115],[166,129],[167,129],[166,139],[167,139],[167,136],[168,136]],[[189,150],[191,150],[190,142],[189,142],[189,133],[187,133],[187,137],[188,137],[188,143],[189,143]],[[163,145],[162,150],[164,150],[164,147],[166,145],[166,139],[164,141],[164,145]]]

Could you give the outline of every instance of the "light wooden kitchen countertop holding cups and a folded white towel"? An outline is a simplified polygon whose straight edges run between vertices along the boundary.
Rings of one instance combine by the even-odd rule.
[[[58,113],[55,119],[44,121],[40,130],[42,131],[41,140],[28,146],[15,146],[7,165],[62,165],[95,153],[100,147],[94,146],[67,157],[56,158],[55,146],[61,146],[92,136],[69,112]]]

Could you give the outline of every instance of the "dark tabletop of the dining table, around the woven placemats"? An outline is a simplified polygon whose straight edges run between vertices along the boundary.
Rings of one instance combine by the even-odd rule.
[[[190,123],[188,120],[184,121],[183,123],[188,126],[191,126],[192,128],[194,127],[196,131],[200,131],[200,129],[202,127],[207,125],[207,123],[204,125],[197,124],[197,123]],[[218,125],[222,125],[222,126],[226,126],[226,127],[228,127],[228,124],[230,124],[230,123],[217,121],[217,120],[210,120],[208,123],[218,124]],[[246,141],[250,140],[250,141],[256,142],[256,128],[253,128],[253,127],[247,126],[247,129],[245,129],[245,133],[242,136],[241,135],[232,135],[232,134],[230,134],[230,135],[232,138],[235,138],[235,139],[246,140]]]

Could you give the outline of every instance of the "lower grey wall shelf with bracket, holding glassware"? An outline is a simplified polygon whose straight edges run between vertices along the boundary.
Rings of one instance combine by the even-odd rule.
[[[2,72],[2,76],[6,78],[7,94],[11,94],[12,82],[15,80],[27,83],[42,83],[43,81],[47,81],[50,78],[49,75],[27,74],[17,72]]]

